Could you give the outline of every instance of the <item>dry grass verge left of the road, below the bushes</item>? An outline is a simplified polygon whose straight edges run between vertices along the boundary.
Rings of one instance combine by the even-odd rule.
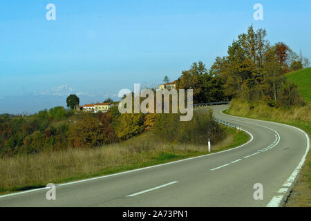
[[[234,148],[249,140],[243,131],[226,128],[227,137],[212,145],[212,153]],[[207,146],[167,144],[153,133],[143,133],[120,144],[7,157],[0,160],[0,194],[108,175],[207,154]]]

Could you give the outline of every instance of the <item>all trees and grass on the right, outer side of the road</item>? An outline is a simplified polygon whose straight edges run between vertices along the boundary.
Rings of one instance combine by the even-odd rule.
[[[290,124],[310,135],[310,62],[283,42],[270,44],[266,36],[264,29],[250,26],[211,66],[232,98],[227,113]],[[310,159],[309,153],[286,206],[311,206]]]

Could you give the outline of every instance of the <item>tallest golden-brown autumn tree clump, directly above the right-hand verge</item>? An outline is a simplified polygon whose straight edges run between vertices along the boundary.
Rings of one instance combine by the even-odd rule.
[[[247,101],[265,99],[270,106],[281,105],[286,96],[291,101],[293,97],[298,99],[295,86],[284,86],[283,74],[299,70],[303,66],[302,55],[299,60],[299,56],[282,42],[270,46],[266,36],[265,29],[254,31],[250,26],[232,42],[227,56],[216,57],[210,73],[223,78],[228,97]]]

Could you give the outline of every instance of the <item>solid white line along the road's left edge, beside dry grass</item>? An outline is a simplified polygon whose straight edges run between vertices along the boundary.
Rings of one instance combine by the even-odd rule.
[[[176,164],[178,162],[183,162],[183,161],[186,161],[186,160],[194,160],[194,159],[198,159],[198,158],[201,158],[201,157],[208,157],[210,155],[216,155],[216,154],[220,154],[220,153],[225,153],[227,151],[234,151],[238,148],[241,148],[243,146],[245,146],[246,144],[249,144],[250,142],[252,142],[254,140],[254,137],[252,135],[252,133],[249,133],[248,131],[245,131],[244,129],[241,129],[242,131],[244,131],[245,133],[247,133],[251,139],[246,142],[245,144],[242,144],[240,146],[236,146],[234,148],[229,148],[225,151],[219,151],[219,152],[216,152],[216,153],[208,153],[208,154],[205,154],[205,155],[200,155],[200,156],[196,156],[196,157],[189,157],[187,159],[183,159],[183,160],[177,160],[177,161],[173,161],[173,162],[168,162],[168,163],[164,163],[164,164],[158,164],[158,165],[153,165],[153,166],[147,166],[147,167],[142,167],[142,168],[139,168],[139,169],[133,169],[131,171],[124,171],[124,172],[120,172],[120,173],[113,173],[113,174],[109,174],[109,175],[102,175],[100,177],[93,177],[93,178],[88,178],[88,179],[85,179],[85,180],[77,180],[77,181],[73,181],[73,182],[66,182],[66,183],[63,183],[63,184],[57,184],[57,186],[66,186],[66,185],[70,185],[70,184],[77,184],[77,183],[80,183],[80,182],[87,182],[87,181],[91,181],[91,180],[100,180],[100,179],[104,179],[106,177],[112,177],[112,176],[115,176],[115,175],[122,175],[122,174],[126,174],[126,173],[133,173],[133,172],[136,172],[136,171],[142,171],[142,170],[146,170],[146,169],[152,169],[152,168],[155,168],[155,167],[158,167],[158,166],[165,166],[165,165],[169,165],[169,164]],[[31,189],[29,191],[21,191],[21,192],[17,192],[17,193],[9,193],[9,194],[6,194],[6,195],[0,195],[0,198],[6,198],[6,197],[10,197],[10,196],[13,196],[13,195],[19,195],[19,194],[23,194],[23,193],[30,193],[30,192],[33,192],[33,191],[41,191],[41,190],[44,190],[44,189],[48,189],[49,187],[43,187],[43,188],[39,188],[39,189]]]

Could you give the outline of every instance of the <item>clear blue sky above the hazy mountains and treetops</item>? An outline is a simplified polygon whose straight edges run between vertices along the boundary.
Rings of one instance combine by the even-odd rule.
[[[46,5],[56,21],[46,20]],[[253,6],[263,4],[263,21]],[[215,57],[252,23],[311,59],[311,1],[29,0],[0,3],[0,97],[69,84],[104,98],[180,76]],[[1,112],[1,111],[0,111]]]

